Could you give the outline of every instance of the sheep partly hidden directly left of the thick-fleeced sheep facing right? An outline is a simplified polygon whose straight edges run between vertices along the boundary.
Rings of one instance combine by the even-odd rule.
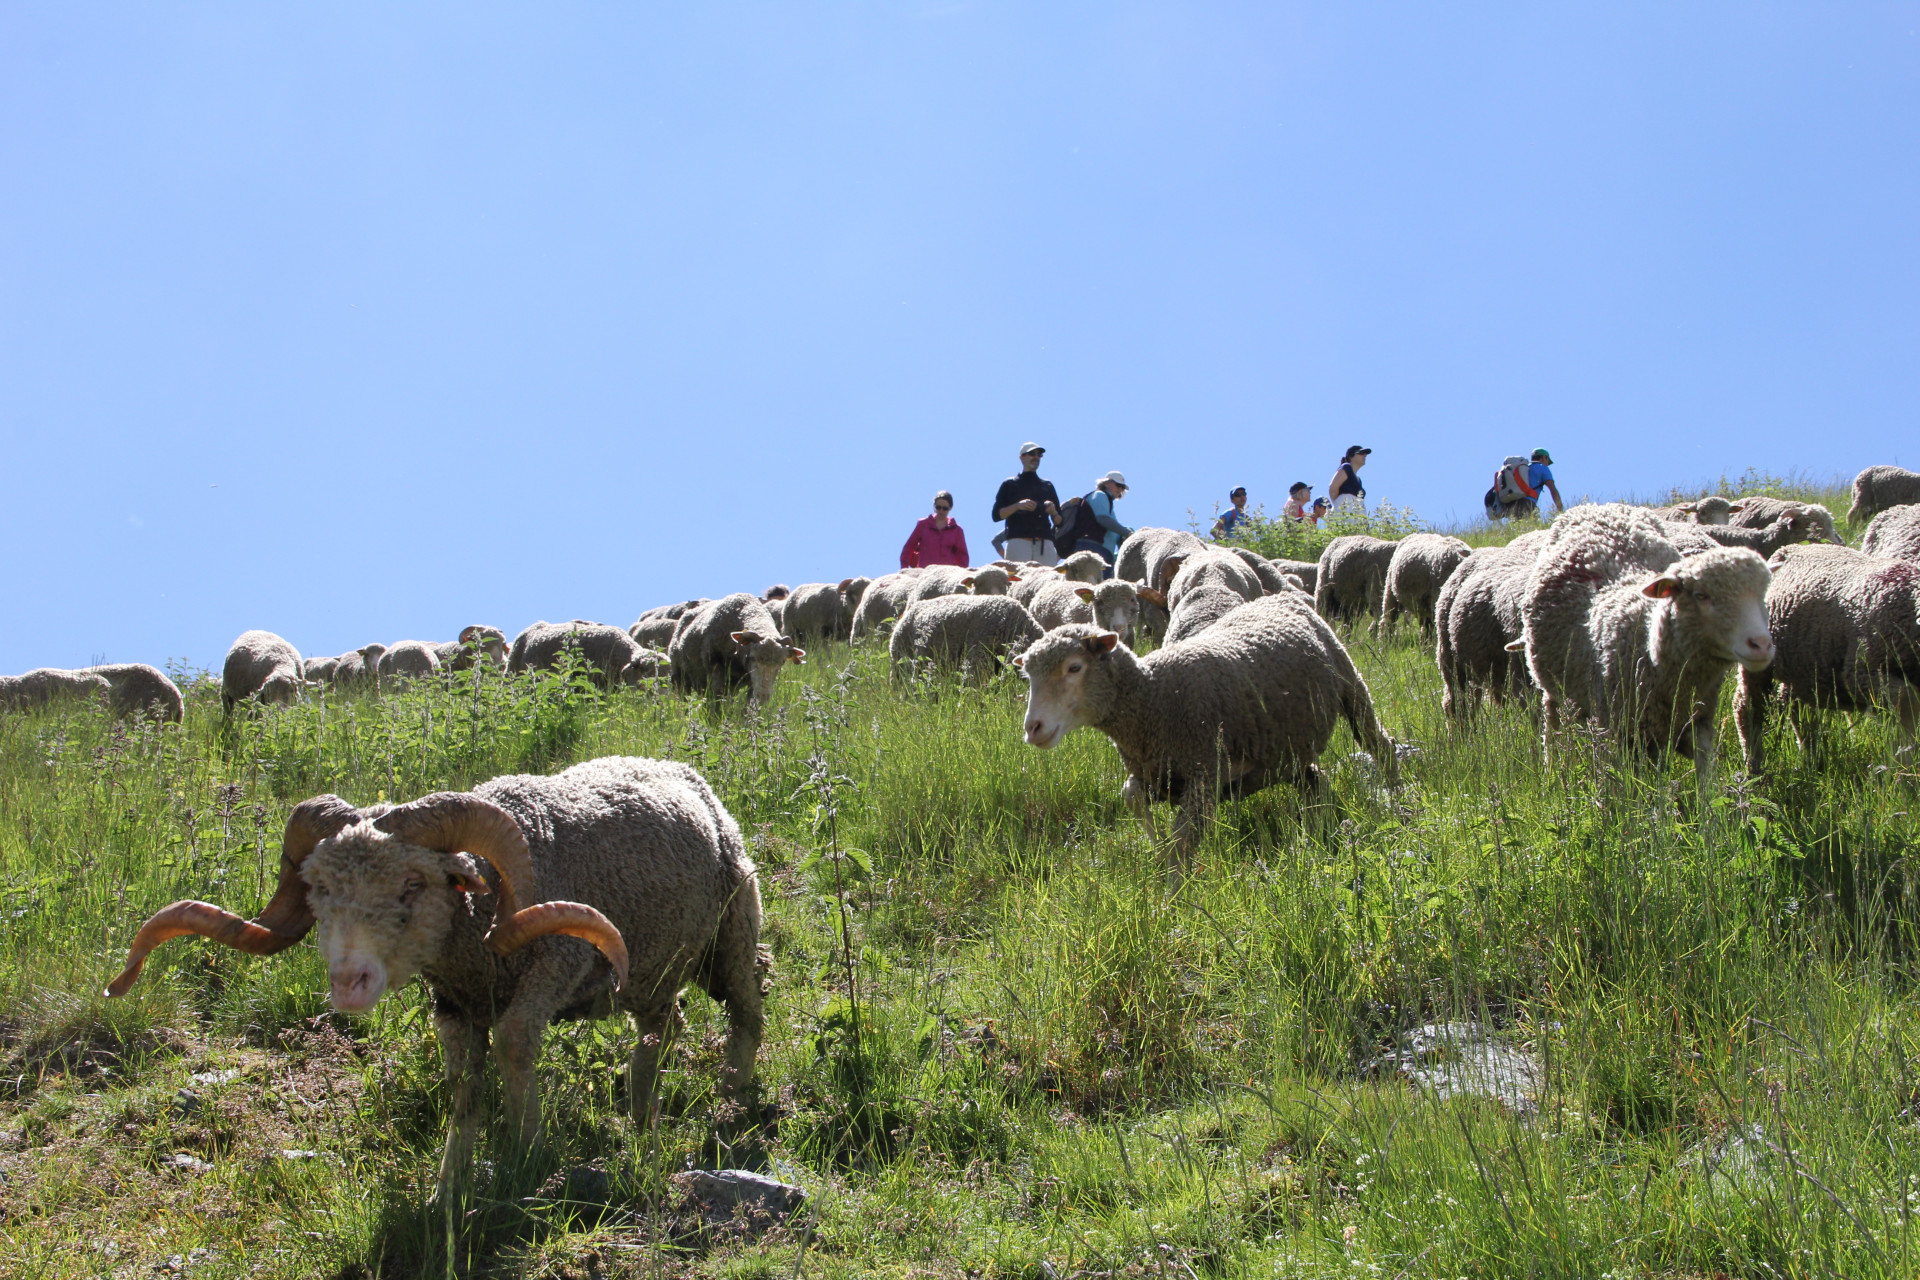
[[[1546,530],[1505,547],[1482,547],[1440,587],[1434,606],[1434,664],[1440,668],[1440,710],[1455,720],[1473,714],[1484,691],[1494,704],[1526,697],[1526,658],[1507,647],[1521,639],[1526,580]]]

